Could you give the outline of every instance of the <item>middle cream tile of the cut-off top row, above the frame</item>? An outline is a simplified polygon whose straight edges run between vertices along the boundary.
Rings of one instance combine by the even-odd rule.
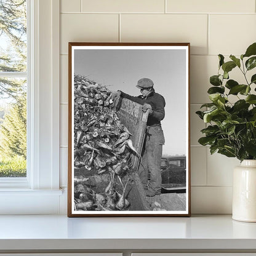
[[[82,12],[164,12],[164,0],[82,0]]]

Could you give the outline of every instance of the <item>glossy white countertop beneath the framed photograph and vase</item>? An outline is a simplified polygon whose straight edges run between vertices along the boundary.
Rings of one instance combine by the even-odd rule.
[[[256,223],[231,215],[74,217],[0,215],[4,250],[256,250]]]

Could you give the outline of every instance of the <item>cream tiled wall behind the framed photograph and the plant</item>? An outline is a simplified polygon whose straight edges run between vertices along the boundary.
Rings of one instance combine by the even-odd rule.
[[[196,116],[207,102],[218,54],[243,54],[256,41],[255,0],[61,0],[60,184],[67,185],[68,42],[191,42],[191,207],[193,214],[230,214],[233,158],[199,145]],[[238,76],[238,74],[234,74]],[[61,212],[66,214],[63,199]]]

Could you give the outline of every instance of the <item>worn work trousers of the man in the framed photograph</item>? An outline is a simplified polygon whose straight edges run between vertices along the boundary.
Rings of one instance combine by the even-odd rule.
[[[138,175],[142,181],[143,188],[152,190],[156,194],[161,194],[162,177],[160,166],[162,145],[164,145],[162,127],[147,127]],[[148,177],[150,177],[149,180]]]

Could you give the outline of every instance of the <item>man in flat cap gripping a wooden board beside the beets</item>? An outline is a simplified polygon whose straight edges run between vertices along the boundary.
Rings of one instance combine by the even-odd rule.
[[[154,91],[154,83],[149,78],[142,78],[137,82],[137,88],[141,95],[138,97],[125,94],[121,90],[114,92],[112,98],[128,98],[142,106],[142,111],[148,110],[148,121],[146,123],[146,134],[142,149],[142,159],[138,168],[138,175],[142,181],[146,196],[161,194],[161,158],[162,145],[164,145],[164,134],[161,121],[164,119],[164,107],[166,102],[162,95]],[[148,175],[150,174],[150,175]],[[148,177],[149,180],[148,180]]]

